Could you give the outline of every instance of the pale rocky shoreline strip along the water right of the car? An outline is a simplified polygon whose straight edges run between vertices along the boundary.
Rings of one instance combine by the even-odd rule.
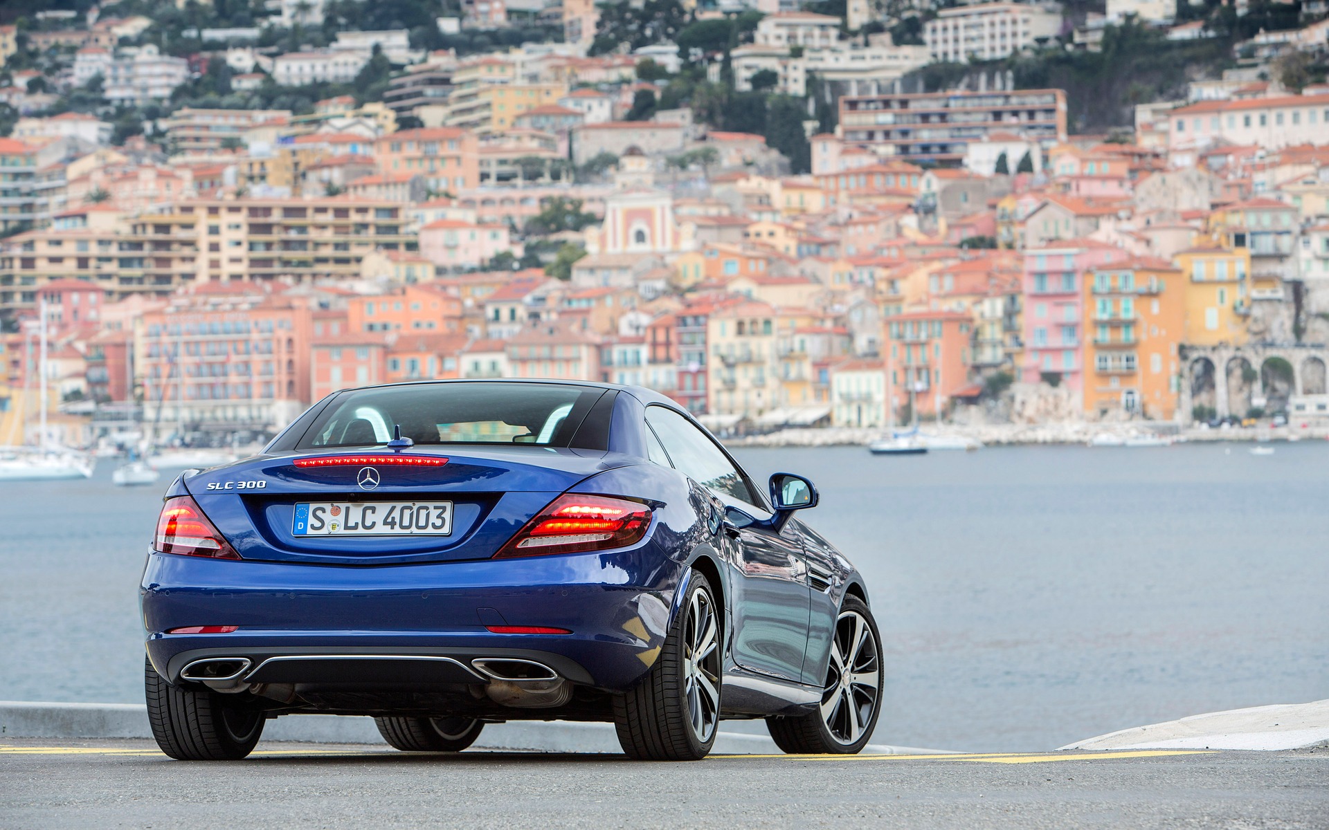
[[[1058,424],[987,424],[974,426],[924,426],[920,437],[960,438],[978,442],[983,446],[1013,446],[1029,444],[1079,444],[1095,438],[1122,440],[1163,437],[1175,441],[1288,441],[1329,438],[1329,425],[1316,426],[1248,426],[1227,429],[1179,428],[1167,422],[1058,422]],[[882,429],[857,429],[848,426],[825,426],[820,429],[783,429],[763,436],[735,436],[724,438],[730,446],[867,446],[873,441],[888,438]]]

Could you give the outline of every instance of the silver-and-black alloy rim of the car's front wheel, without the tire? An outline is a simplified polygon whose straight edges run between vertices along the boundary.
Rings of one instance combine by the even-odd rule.
[[[831,665],[821,693],[821,720],[831,737],[853,744],[872,722],[881,697],[881,655],[868,620],[843,611],[831,641]]]

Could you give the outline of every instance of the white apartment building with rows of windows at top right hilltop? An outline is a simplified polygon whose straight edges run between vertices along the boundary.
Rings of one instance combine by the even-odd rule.
[[[957,64],[995,61],[1061,31],[1059,11],[1023,3],[983,3],[941,9],[924,24],[933,60]]]

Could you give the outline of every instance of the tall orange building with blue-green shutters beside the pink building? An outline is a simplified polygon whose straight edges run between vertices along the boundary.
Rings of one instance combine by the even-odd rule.
[[[1084,412],[1170,420],[1180,390],[1185,284],[1172,263],[1139,258],[1084,279]]]

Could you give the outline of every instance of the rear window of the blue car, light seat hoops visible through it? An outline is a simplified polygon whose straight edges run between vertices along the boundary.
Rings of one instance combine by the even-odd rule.
[[[396,426],[401,428],[401,437],[417,445],[533,444],[603,449],[609,444],[609,418],[587,418],[602,396],[605,389],[563,384],[413,384],[356,389],[342,393],[319,413],[295,449],[380,445],[392,438]],[[591,436],[586,430],[603,434]]]

